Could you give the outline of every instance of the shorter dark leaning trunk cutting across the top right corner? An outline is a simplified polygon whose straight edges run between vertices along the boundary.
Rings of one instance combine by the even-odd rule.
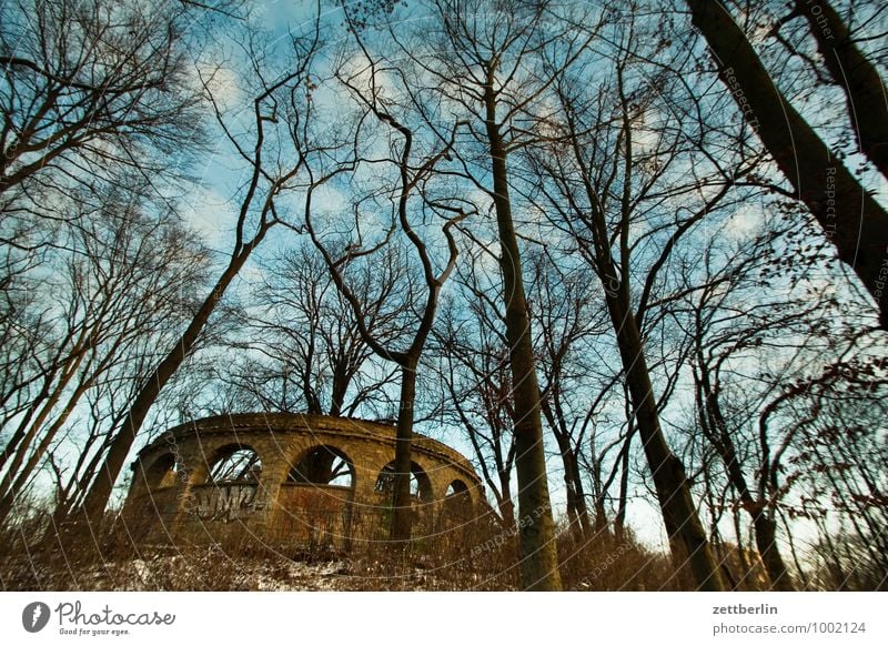
[[[888,178],[888,101],[878,70],[851,42],[848,28],[827,0],[796,0],[796,11],[808,19],[827,70],[845,91],[860,152]]]

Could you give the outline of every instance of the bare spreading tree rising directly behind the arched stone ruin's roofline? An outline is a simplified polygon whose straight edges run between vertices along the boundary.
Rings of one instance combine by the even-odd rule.
[[[369,264],[353,276],[369,329],[381,337],[405,314],[384,310],[398,285],[393,269]],[[242,323],[245,337],[230,342],[248,356],[220,375],[225,387],[239,393],[246,408],[353,416],[381,403],[395,373],[373,374],[380,372],[376,365],[366,370],[374,353],[316,251],[304,244],[289,250],[263,276]],[[374,294],[377,282],[382,290]]]

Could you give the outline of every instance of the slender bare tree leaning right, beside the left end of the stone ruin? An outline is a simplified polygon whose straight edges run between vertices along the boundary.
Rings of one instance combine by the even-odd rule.
[[[210,316],[219,305],[225,291],[239,274],[252,252],[265,239],[269,231],[281,222],[275,200],[280,194],[300,192],[307,205],[312,194],[344,168],[327,172],[309,168],[325,159],[326,145],[316,144],[311,135],[312,127],[312,64],[320,46],[320,24],[315,22],[312,32],[293,38],[292,64],[290,69],[273,80],[264,78],[265,70],[256,68],[260,89],[252,100],[252,131],[239,135],[225,121],[223,107],[213,100],[212,79],[204,79],[208,97],[215,110],[220,128],[233,145],[236,155],[249,169],[249,181],[243,190],[238,220],[234,228],[234,244],[228,263],[215,281],[213,289],[204,297],[192,320],[183,330],[178,342],[157,364],[151,375],[144,380],[131,406],[115,422],[114,437],[109,444],[107,456],[84,496],[81,509],[85,519],[98,526],[133,443],[149,411],[162,388],[172,378],[185,359],[193,352]],[[255,65],[262,60],[255,43],[248,43],[248,53]],[[285,142],[279,137],[276,122],[287,119],[289,145],[286,162],[283,160]],[[79,511],[79,512],[80,512]]]

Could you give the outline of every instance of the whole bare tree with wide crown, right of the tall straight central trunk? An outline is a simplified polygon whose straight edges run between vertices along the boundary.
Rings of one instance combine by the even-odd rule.
[[[658,397],[646,343],[682,295],[667,272],[676,250],[705,218],[728,213],[748,199],[748,192],[731,190],[748,183],[761,157],[748,147],[741,125],[715,122],[708,112],[715,98],[703,100],[707,115],[702,115],[695,107],[702,99],[692,91],[695,80],[672,71],[682,69],[688,54],[672,49],[667,34],[639,46],[646,28],[634,18],[617,23],[610,51],[557,69],[552,87],[557,108],[549,112],[553,142],[527,149],[534,186],[528,191],[604,286],[632,415],[676,565],[686,564],[695,585],[720,589],[685,466],[660,426],[659,411],[676,372]],[[663,55],[672,62],[662,61]],[[596,81],[579,82],[593,68]],[[702,148],[707,138],[724,138],[718,153]],[[682,344],[674,364],[687,353],[687,343]]]

